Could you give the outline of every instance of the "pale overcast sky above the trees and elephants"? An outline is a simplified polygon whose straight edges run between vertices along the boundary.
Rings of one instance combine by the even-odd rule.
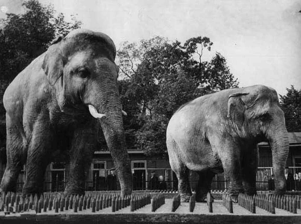
[[[20,13],[21,0],[0,0]],[[119,47],[159,35],[182,43],[207,36],[227,59],[240,86],[264,84],[280,94],[301,89],[301,1],[40,0],[65,15],[77,14],[83,28],[108,34]]]

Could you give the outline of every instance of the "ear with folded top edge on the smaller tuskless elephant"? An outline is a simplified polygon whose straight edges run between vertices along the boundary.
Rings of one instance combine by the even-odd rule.
[[[244,112],[246,110],[245,103],[241,99],[241,96],[247,95],[249,93],[239,92],[232,93],[228,99],[228,114],[227,118],[241,127],[244,123]]]

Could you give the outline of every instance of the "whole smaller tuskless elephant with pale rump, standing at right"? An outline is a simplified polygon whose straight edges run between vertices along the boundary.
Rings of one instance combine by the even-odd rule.
[[[182,201],[191,195],[188,174],[199,174],[196,192],[203,201],[214,175],[225,172],[228,192],[256,194],[257,144],[272,147],[275,193],[285,192],[284,167],[288,134],[274,89],[255,85],[201,96],[181,106],[169,121],[166,144],[169,163],[178,178]]]

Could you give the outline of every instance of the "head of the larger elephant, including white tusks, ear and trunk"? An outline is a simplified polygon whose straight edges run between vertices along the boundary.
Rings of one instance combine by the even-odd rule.
[[[45,52],[42,68],[60,110],[92,116],[100,122],[123,194],[132,191],[122,106],[117,87],[115,45],[104,33],[78,29],[58,37]],[[98,120],[98,121],[97,121]]]

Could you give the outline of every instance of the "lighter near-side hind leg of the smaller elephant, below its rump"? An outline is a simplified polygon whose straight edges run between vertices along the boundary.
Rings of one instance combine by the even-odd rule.
[[[189,184],[189,169],[185,164],[176,156],[176,152],[179,150],[178,145],[175,141],[169,142],[167,144],[168,155],[169,155],[169,163],[171,169],[178,178],[178,191],[181,196],[182,202],[188,202],[191,196],[191,188]]]

